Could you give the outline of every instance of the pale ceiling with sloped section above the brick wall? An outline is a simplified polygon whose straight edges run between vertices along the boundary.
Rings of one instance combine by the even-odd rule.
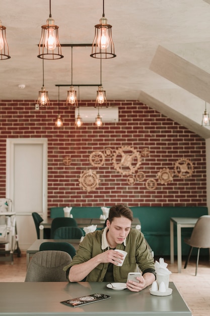
[[[105,0],[116,58],[102,60],[108,100],[139,100],[203,138],[205,108],[210,112],[210,0]],[[36,100],[42,87],[37,58],[49,0],[1,0],[11,59],[0,61],[0,99]],[[51,0],[61,44],[92,43],[102,0]],[[73,48],[73,84],[100,84],[100,60],[91,47]],[[63,59],[44,61],[44,86],[51,100],[56,85],[71,85],[71,47]],[[25,88],[19,88],[24,84]],[[66,99],[68,87],[60,87]],[[76,87],[77,90],[77,87]],[[80,87],[80,99],[96,98],[97,87]]]

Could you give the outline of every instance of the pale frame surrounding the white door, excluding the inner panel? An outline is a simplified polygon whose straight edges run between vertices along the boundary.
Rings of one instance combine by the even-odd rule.
[[[29,144],[43,146],[43,192],[42,192],[42,215],[47,218],[47,138],[7,138],[7,154],[6,154],[6,196],[12,201],[14,200],[14,147],[16,144]],[[31,215],[21,214],[18,215]]]

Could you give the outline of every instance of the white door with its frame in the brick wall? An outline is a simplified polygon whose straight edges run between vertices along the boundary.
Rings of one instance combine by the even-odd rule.
[[[16,212],[19,247],[37,239],[32,212],[47,217],[47,138],[7,139],[6,197]]]

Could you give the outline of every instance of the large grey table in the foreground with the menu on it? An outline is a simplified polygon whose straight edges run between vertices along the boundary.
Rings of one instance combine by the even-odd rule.
[[[107,282],[1,282],[0,316],[192,316],[173,282],[169,283],[172,293],[167,296],[152,295],[150,287],[131,292],[107,285]],[[92,297],[106,299],[97,301]],[[73,307],[63,301],[79,305]],[[84,301],[88,303],[81,304]]]

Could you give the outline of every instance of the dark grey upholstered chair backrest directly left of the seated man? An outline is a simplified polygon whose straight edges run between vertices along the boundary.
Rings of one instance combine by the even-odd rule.
[[[25,282],[67,282],[63,268],[71,262],[71,256],[65,251],[36,252],[29,262]]]

